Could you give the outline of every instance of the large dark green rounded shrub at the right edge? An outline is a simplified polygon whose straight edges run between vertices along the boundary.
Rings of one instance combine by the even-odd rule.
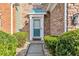
[[[79,55],[79,29],[59,36],[57,55]]]

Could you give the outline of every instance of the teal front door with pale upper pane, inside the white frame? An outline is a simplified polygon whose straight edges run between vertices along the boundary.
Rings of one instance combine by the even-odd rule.
[[[33,37],[40,37],[40,19],[33,19]]]

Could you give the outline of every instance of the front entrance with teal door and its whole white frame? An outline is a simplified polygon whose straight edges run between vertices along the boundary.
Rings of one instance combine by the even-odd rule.
[[[43,40],[44,37],[44,15],[30,15],[30,40]]]

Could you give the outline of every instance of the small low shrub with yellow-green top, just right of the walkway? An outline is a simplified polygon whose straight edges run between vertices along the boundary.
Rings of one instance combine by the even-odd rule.
[[[57,36],[45,36],[44,38],[45,44],[47,48],[49,49],[49,52],[52,55],[56,55],[56,44],[57,44]]]

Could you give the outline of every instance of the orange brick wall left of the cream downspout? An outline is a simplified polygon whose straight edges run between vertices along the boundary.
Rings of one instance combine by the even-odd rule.
[[[10,4],[8,3],[0,3],[1,10],[1,29],[5,32],[11,31],[11,9]]]

